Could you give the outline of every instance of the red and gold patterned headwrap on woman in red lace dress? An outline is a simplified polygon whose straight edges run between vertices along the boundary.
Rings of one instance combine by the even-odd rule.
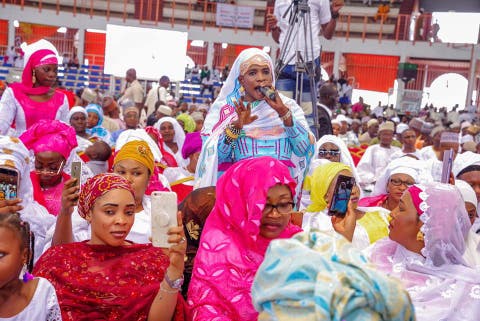
[[[89,178],[85,184],[82,185],[82,190],[78,197],[78,214],[85,218],[97,198],[114,189],[125,189],[135,197],[130,183],[120,175],[102,173]]]

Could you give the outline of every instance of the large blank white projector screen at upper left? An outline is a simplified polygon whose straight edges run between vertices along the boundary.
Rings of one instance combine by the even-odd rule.
[[[187,33],[107,25],[105,73],[125,77],[135,68],[137,78],[157,80],[167,75],[184,80]]]

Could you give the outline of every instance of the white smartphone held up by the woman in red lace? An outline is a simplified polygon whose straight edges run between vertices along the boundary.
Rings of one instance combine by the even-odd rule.
[[[152,192],[152,244],[169,248],[168,229],[178,226],[177,194],[174,192]]]

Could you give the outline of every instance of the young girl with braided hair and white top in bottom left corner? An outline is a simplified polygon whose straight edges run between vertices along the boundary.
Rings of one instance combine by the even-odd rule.
[[[19,279],[21,271],[23,281]],[[57,295],[33,278],[33,234],[18,214],[0,215],[0,320],[62,320]]]

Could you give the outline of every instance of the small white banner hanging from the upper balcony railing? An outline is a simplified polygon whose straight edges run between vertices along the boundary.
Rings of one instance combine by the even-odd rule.
[[[254,7],[241,7],[231,4],[217,4],[217,26],[253,28]]]

